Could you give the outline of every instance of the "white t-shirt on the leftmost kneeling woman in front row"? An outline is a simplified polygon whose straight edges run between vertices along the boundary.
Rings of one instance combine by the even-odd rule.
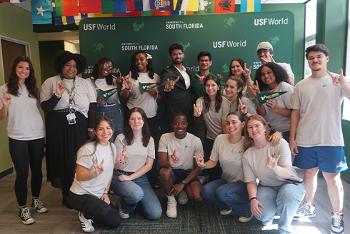
[[[98,143],[95,151],[94,145],[94,142],[87,143],[79,149],[78,153],[76,153],[76,164],[88,168],[86,173],[91,173],[95,171],[94,164],[97,166],[104,159],[104,172],[95,179],[85,181],[76,180],[75,175],[71,184],[71,192],[76,195],[90,194],[101,198],[113,175],[114,163],[116,162],[116,147],[113,143],[109,143],[108,146],[102,146]],[[113,148],[113,152],[111,151],[111,147]]]

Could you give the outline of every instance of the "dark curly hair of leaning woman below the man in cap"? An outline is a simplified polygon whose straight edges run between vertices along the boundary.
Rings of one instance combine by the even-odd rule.
[[[265,63],[264,65],[261,65],[258,70],[256,70],[255,77],[254,77],[254,83],[258,81],[260,91],[264,90],[264,88],[266,87],[269,87],[266,83],[264,83],[261,80],[261,69],[266,66],[270,68],[271,71],[274,73],[277,83],[281,83],[282,81],[288,83],[288,74],[286,70],[284,70],[284,68],[279,66],[279,64],[277,63]]]

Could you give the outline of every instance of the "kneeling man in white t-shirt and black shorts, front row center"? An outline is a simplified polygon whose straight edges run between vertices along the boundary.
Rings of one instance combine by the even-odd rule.
[[[175,114],[171,122],[174,132],[163,134],[159,141],[159,175],[161,187],[168,197],[166,215],[169,218],[177,215],[174,195],[179,195],[181,205],[187,203],[187,195],[196,203],[203,200],[202,185],[197,178],[201,168],[194,163],[194,156],[202,154],[203,147],[198,137],[186,132],[187,125],[184,113]]]

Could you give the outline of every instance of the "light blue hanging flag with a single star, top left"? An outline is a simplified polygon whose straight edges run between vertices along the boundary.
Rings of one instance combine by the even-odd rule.
[[[52,24],[51,1],[31,0],[31,18],[33,24]]]

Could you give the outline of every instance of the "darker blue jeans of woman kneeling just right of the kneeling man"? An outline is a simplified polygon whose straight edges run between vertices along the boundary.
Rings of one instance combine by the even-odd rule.
[[[224,210],[227,205],[236,210],[239,215],[245,215],[249,207],[249,195],[246,183],[241,181],[227,183],[224,179],[214,180],[201,189],[201,195]]]

